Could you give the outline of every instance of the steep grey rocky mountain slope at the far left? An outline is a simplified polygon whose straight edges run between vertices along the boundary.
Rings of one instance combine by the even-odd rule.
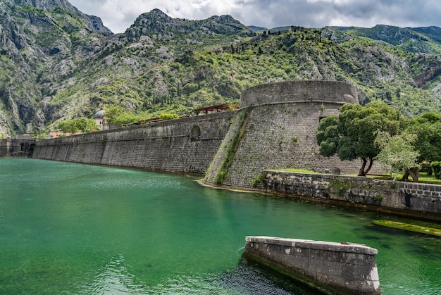
[[[0,134],[44,128],[45,98],[112,32],[64,0],[1,0],[0,12]]]

